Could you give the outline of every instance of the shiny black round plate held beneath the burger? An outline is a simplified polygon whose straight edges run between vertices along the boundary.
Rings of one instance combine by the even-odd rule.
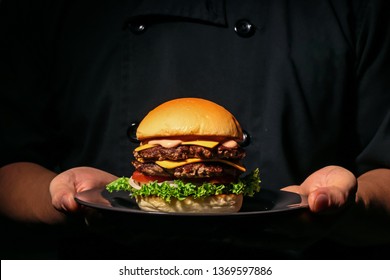
[[[262,189],[254,198],[244,198],[243,207],[238,213],[165,213],[146,212],[138,208],[137,203],[128,192],[108,192],[105,188],[92,189],[78,193],[76,201],[81,205],[100,210],[124,212],[142,215],[171,215],[171,216],[247,216],[266,215],[275,212],[285,212],[307,208],[306,197],[297,194]]]

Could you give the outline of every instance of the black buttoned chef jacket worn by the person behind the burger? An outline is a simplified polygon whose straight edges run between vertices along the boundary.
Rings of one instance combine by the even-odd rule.
[[[1,164],[132,172],[127,130],[202,97],[250,134],[262,186],[390,168],[388,1],[7,1]]]

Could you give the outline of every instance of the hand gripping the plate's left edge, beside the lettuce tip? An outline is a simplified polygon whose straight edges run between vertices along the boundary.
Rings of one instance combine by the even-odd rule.
[[[80,205],[74,200],[78,192],[101,187],[116,176],[92,167],[75,167],[58,174],[50,183],[53,206],[59,211],[76,212]]]

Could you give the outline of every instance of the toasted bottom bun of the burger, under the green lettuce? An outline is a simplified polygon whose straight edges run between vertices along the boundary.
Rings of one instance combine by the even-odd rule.
[[[144,211],[178,213],[235,213],[240,211],[243,196],[220,194],[206,198],[172,199],[166,202],[158,196],[137,196],[138,207]]]

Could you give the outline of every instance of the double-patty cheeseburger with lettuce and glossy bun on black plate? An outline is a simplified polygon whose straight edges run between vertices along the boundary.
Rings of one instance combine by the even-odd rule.
[[[247,173],[242,163],[240,124],[212,101],[167,101],[142,119],[136,137],[135,171],[107,190],[128,191],[141,210],[234,213],[244,196],[260,191],[259,170]]]

